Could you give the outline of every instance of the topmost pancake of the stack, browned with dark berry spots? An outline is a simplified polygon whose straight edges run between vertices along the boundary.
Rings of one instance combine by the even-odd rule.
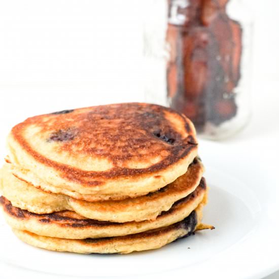
[[[197,155],[184,115],[121,103],[28,118],[8,137],[17,177],[35,187],[98,201],[146,195],[182,176]]]

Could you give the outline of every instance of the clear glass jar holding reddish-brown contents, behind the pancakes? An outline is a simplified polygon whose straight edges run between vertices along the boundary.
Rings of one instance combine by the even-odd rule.
[[[167,100],[202,137],[228,137],[250,119],[248,15],[241,0],[168,0]]]

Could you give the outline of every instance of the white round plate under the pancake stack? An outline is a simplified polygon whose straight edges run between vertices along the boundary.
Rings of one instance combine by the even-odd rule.
[[[64,276],[262,278],[279,267],[277,190],[268,163],[243,157],[226,145],[201,142],[200,155],[210,186],[202,231],[157,251],[130,255],[78,255],[50,252],[22,243],[2,224],[2,272],[21,278]],[[2,273],[3,274],[3,273]]]

